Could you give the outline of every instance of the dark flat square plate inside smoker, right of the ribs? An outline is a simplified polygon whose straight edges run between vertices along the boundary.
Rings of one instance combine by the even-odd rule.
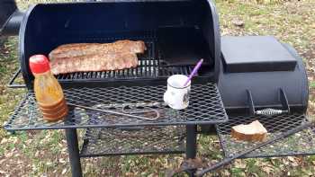
[[[209,44],[199,28],[164,28],[158,30],[158,46],[164,51],[162,65],[194,66],[203,58],[202,66],[213,66]]]

